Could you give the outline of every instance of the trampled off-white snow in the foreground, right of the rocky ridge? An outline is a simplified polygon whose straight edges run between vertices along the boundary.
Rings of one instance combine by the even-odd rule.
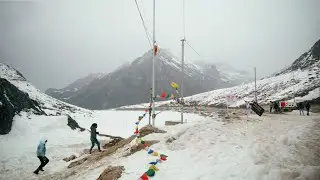
[[[225,124],[213,118],[189,128],[172,128],[169,134],[176,141],[153,146],[169,155],[154,179],[320,178],[319,116],[300,117],[295,112],[261,118],[252,115],[249,122],[245,119]],[[148,139],[163,140],[167,136],[153,134]],[[139,152],[129,158],[131,161],[123,159],[119,163],[126,168],[121,179],[135,179],[147,168],[139,161],[151,161],[145,154]]]

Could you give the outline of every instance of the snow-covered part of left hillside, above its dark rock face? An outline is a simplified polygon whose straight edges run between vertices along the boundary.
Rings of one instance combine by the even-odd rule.
[[[35,88],[31,83],[29,83],[23,75],[15,70],[14,68],[0,63],[0,77],[8,80],[11,84],[16,86],[19,90],[28,93],[29,97],[32,100],[35,100],[39,103],[41,109],[47,115],[56,115],[58,114],[67,114],[75,111],[82,111],[89,113],[90,111],[76,107],[71,104],[56,100]]]

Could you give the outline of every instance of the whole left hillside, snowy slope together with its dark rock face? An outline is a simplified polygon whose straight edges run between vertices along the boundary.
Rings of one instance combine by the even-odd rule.
[[[41,93],[19,71],[3,63],[0,84],[0,134],[10,133],[14,117],[22,111],[45,116],[91,113]]]

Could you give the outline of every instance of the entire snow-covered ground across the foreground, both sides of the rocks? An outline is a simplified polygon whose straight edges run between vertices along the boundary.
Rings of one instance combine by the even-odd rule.
[[[128,137],[133,134],[141,111],[95,111],[91,116],[73,114],[80,126],[98,123],[98,131]],[[31,119],[28,119],[31,118]],[[186,124],[164,126],[167,120],[179,120],[178,112],[162,112],[156,125],[166,134],[150,134],[145,140],[160,140],[152,148],[168,155],[160,163],[153,179],[319,179],[320,116],[250,115],[223,122],[216,116],[204,118],[186,114]],[[141,123],[147,124],[147,119]],[[89,133],[71,130],[65,116],[16,116],[12,132],[0,136],[0,179],[38,179],[32,171],[39,160],[35,151],[42,137],[48,139],[47,155],[51,160],[40,179],[70,171],[64,157],[90,147]],[[170,137],[176,140],[166,143]],[[107,140],[107,139],[101,139]],[[69,179],[96,179],[109,165],[123,165],[122,180],[138,179],[155,157],[146,151],[129,157],[121,153],[93,163]],[[318,174],[317,174],[318,173]],[[58,178],[54,178],[58,179]]]

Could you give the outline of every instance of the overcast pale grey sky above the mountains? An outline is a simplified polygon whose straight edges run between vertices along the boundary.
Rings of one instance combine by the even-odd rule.
[[[138,0],[152,33],[152,0]],[[187,62],[223,61],[264,76],[320,38],[319,0],[185,0]],[[180,56],[182,0],[157,0],[156,40]],[[134,0],[0,1],[0,61],[36,87],[110,72],[150,48]]]

